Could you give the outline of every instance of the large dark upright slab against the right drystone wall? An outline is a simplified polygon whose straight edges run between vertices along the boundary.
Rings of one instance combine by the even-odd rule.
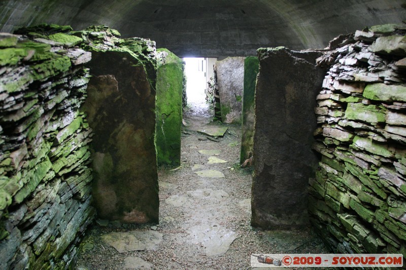
[[[308,179],[317,166],[312,152],[314,107],[323,72],[319,53],[284,47],[258,49],[255,92],[252,220],[263,228],[309,223]]]

